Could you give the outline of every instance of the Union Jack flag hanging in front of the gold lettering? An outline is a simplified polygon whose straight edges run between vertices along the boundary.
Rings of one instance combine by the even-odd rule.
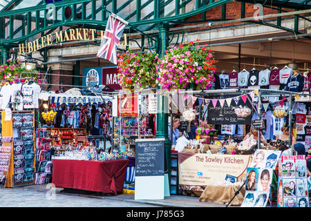
[[[107,21],[100,49],[97,52],[97,57],[107,59],[113,64],[117,64],[117,44],[119,44],[127,24],[127,21],[111,13]]]

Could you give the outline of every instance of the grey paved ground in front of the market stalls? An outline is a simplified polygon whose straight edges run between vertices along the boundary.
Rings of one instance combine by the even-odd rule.
[[[21,200],[22,199],[22,200]],[[46,185],[0,189],[1,207],[223,207],[223,204],[199,202],[198,197],[171,195],[164,200],[134,200],[133,194],[96,195],[70,193]]]

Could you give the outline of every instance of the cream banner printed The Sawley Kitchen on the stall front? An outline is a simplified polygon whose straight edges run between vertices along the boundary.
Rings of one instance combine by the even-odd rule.
[[[216,185],[229,180],[237,182],[246,175],[250,155],[219,155],[206,153],[178,153],[179,184],[191,186]],[[198,189],[199,190],[199,189]]]

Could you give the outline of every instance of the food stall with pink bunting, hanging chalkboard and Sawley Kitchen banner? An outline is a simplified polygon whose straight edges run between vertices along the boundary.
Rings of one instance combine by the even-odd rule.
[[[218,93],[218,95],[213,95],[215,93]],[[236,96],[237,93],[240,95]],[[282,96],[280,97],[280,95]],[[294,128],[296,127],[296,120],[292,117],[290,110],[295,108],[297,103],[294,104],[294,97],[298,97],[298,95],[301,95],[301,93],[288,90],[270,91],[268,89],[252,90],[246,88],[236,89],[236,91],[234,91],[234,89],[223,91],[210,90],[205,93],[202,93],[202,91],[192,91],[191,95],[185,95],[183,99],[185,99],[187,103],[193,104],[190,109],[199,110],[197,113],[199,124],[196,128],[196,139],[200,140],[200,142],[186,140],[184,135],[177,140],[177,145],[172,147],[175,151],[179,152],[178,158],[180,165],[178,175],[180,187],[184,189],[183,193],[186,194],[187,191],[191,191],[191,193],[201,195],[200,201],[205,201],[207,198],[214,198],[215,201],[213,202],[225,200],[222,198],[222,194],[215,196],[215,192],[212,194],[211,191],[206,192],[203,190],[206,190],[206,187],[209,185],[216,185],[218,189],[221,189],[218,192],[216,191],[217,193],[225,191],[234,195],[238,190],[238,184],[240,184],[240,186],[243,184],[243,180],[245,179],[243,171],[247,168],[252,158],[254,158],[253,155],[256,149],[280,152],[286,150],[292,151],[292,148],[290,148],[292,147],[292,142],[277,139],[277,136],[281,133],[277,134],[274,133],[274,131],[281,131],[281,127],[285,127],[285,125],[283,125],[285,122],[292,122],[292,124],[286,125],[289,128],[288,131],[296,131],[296,128]],[[278,100],[272,103],[263,103],[263,98],[265,98],[265,96],[278,97]],[[200,105],[199,108],[196,108],[196,103]],[[189,110],[184,111],[184,113],[187,111]],[[267,111],[272,113],[272,122],[267,121],[267,117],[265,117]],[[191,120],[193,119],[195,119],[195,117],[192,117]],[[221,124],[221,126],[218,126],[218,124]],[[223,124],[225,126],[223,126]],[[238,124],[244,124],[240,129],[241,136],[236,136],[234,134],[234,131],[239,130],[237,128],[239,126]],[[282,126],[280,126],[281,124]],[[271,126],[271,128],[269,126]],[[256,129],[256,133],[258,134],[249,133],[249,131],[252,132],[254,129]],[[222,133],[225,135],[222,135]],[[272,137],[265,137],[271,134]],[[294,133],[291,133],[290,139],[292,140],[293,137]],[[200,153],[209,153],[212,155]],[[288,154],[290,154],[290,152],[288,152]],[[248,160],[242,160],[236,158],[238,156],[249,158]],[[220,159],[222,157],[224,157],[224,159]],[[229,157],[236,159],[229,160]],[[187,163],[185,160],[187,160]],[[234,165],[231,166],[231,172],[227,170],[226,165],[220,165],[222,161],[226,163],[234,162]],[[245,163],[245,161],[247,163]],[[243,168],[241,168],[242,165],[237,165],[236,162],[243,162]],[[214,182],[213,184],[204,185],[204,182],[195,181],[202,179],[199,174],[194,175],[185,172],[190,168],[200,168],[202,164],[205,166],[206,164],[211,164],[208,166],[209,169],[217,167],[218,171],[222,169],[224,171],[221,174],[212,174],[212,169],[206,171],[206,169],[204,170],[202,168],[202,174],[205,174],[207,177],[210,175],[210,180]],[[234,175],[235,172],[233,168],[236,166],[240,166],[239,169],[243,169],[242,171],[238,171],[238,168],[236,168],[236,175],[239,176]],[[216,172],[214,171],[214,173]],[[224,175],[225,177],[223,177]],[[194,178],[189,179],[191,176],[194,176]],[[275,175],[272,177],[274,181],[274,193],[276,193],[276,177]],[[224,190],[220,188],[220,186],[230,186],[230,189],[226,188],[226,190]],[[202,193],[204,194],[202,195]],[[230,199],[227,198],[226,200],[229,202]],[[240,197],[236,198],[236,200],[234,204],[241,205],[243,202],[243,194],[240,194]],[[271,199],[270,202],[272,202]]]

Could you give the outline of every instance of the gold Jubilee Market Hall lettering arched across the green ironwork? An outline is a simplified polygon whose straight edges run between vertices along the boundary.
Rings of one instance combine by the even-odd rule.
[[[45,35],[39,39],[41,39],[41,44],[39,43],[39,39],[35,41],[30,41],[27,44],[19,44],[19,55],[26,55],[31,52],[35,52],[41,48],[45,48],[46,46],[50,46],[52,44],[59,44],[64,41],[79,41],[79,40],[91,40],[95,41],[95,33],[97,33],[96,29],[93,28],[75,28],[68,30],[61,30],[59,32],[55,32],[53,34]],[[100,30],[101,39],[104,37],[104,30]],[[55,38],[52,39],[52,36],[55,35]],[[119,44],[121,45],[121,44]],[[124,34],[124,46],[128,46],[126,34]]]

